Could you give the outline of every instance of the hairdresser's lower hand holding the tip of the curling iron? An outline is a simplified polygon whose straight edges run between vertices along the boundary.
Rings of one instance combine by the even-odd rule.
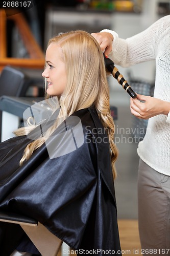
[[[149,119],[160,114],[168,115],[170,110],[170,102],[150,96],[137,94],[137,97],[131,98],[130,101],[131,113],[140,119]]]

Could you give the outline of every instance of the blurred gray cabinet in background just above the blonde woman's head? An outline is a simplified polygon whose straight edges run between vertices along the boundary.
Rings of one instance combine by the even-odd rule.
[[[112,12],[49,8],[45,17],[45,46],[48,39],[71,30],[89,33],[111,29]]]

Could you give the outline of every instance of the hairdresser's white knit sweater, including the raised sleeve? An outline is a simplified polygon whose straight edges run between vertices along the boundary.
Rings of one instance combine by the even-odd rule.
[[[170,102],[170,15],[126,40],[118,38],[114,31],[103,31],[113,34],[110,58],[116,65],[128,67],[156,60],[154,97]],[[170,176],[170,112],[168,116],[157,115],[149,119],[147,133],[139,142],[137,152],[157,172]]]

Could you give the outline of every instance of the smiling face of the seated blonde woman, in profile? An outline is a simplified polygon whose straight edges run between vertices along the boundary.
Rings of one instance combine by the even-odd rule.
[[[66,86],[65,63],[61,56],[61,48],[52,42],[46,50],[46,67],[42,73],[47,80],[46,93],[51,96],[60,96]]]

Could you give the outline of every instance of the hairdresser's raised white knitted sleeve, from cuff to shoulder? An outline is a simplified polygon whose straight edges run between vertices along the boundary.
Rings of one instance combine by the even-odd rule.
[[[114,38],[113,50],[109,57],[116,65],[129,67],[156,58],[158,44],[169,26],[170,15],[167,15],[146,30],[127,39],[119,38],[117,33],[111,30],[102,30],[101,32],[110,32]]]

